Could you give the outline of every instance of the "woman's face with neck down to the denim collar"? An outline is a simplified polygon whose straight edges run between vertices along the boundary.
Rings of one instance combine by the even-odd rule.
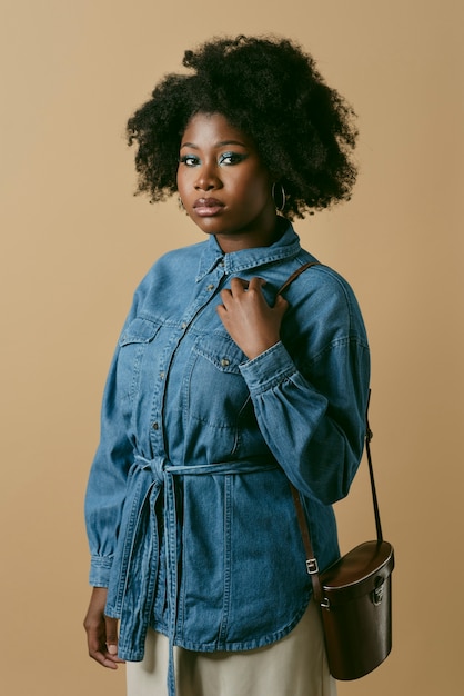
[[[272,180],[253,142],[220,113],[198,113],[182,137],[178,189],[188,215],[228,252],[272,243]]]

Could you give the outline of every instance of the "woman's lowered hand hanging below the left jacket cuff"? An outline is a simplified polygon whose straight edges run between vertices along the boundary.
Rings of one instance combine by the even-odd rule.
[[[104,615],[108,590],[94,587],[83,622],[89,655],[103,667],[118,669],[118,619]]]

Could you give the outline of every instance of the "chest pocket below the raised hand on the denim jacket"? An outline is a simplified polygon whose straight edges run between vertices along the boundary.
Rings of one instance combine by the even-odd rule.
[[[231,338],[200,336],[193,347],[189,375],[188,411],[215,428],[236,429],[252,409],[250,392],[240,372],[245,355]]]

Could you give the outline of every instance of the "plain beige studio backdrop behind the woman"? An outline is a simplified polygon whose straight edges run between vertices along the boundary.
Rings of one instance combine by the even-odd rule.
[[[373,441],[395,545],[394,649],[340,695],[460,692],[463,11],[456,0],[1,0],[2,693],[124,693],[88,659],[82,498],[100,397],[132,290],[200,239],[132,197],[127,117],[185,48],[289,34],[355,106],[351,203],[297,223],[354,286],[373,352]],[[272,105],[270,105],[272,108]],[[339,506],[344,549],[374,534],[366,477]]]

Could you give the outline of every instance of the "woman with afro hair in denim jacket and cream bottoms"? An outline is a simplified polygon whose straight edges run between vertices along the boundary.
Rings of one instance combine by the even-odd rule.
[[[208,238],[148,272],[110,369],[85,501],[89,653],[128,660],[130,696],[327,696],[289,479],[327,566],[369,349],[333,270],[279,288],[315,261],[291,220],[350,196],[353,113],[288,40],[213,40],[183,63],[128,137],[139,191],[179,193]]]

